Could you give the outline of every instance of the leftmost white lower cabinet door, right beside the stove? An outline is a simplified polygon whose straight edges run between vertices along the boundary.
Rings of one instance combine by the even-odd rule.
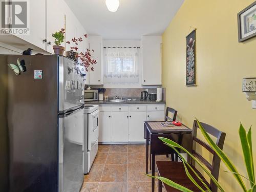
[[[111,142],[111,112],[99,112],[99,142]]]

